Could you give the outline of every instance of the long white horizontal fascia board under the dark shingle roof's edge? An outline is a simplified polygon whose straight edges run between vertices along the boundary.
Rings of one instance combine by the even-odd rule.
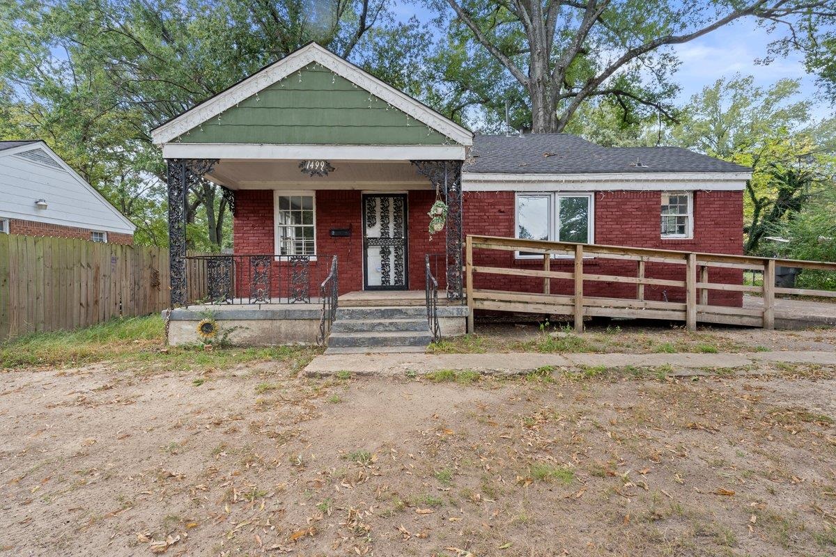
[[[741,191],[751,172],[659,172],[611,174],[487,174],[465,172],[464,191]]]

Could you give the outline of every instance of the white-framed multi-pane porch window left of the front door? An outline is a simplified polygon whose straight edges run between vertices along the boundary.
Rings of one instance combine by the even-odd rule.
[[[316,196],[312,191],[280,191],[273,198],[278,256],[316,255]]]

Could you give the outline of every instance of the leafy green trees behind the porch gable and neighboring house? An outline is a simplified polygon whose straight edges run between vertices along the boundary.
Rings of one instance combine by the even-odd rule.
[[[382,77],[420,78],[405,65],[423,32],[395,23],[388,2],[0,3],[0,139],[42,137],[139,226],[138,242],[165,244],[150,130],[312,40]],[[219,249],[229,210],[217,187],[197,185],[188,206],[192,246]]]

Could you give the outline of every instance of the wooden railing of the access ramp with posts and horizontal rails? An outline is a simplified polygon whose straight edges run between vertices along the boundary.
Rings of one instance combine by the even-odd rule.
[[[775,324],[775,296],[790,294],[796,296],[836,297],[836,291],[809,290],[802,288],[778,288],[775,286],[777,266],[796,267],[816,271],[836,272],[836,263],[819,261],[796,261],[773,259],[769,257],[732,256],[726,254],[697,253],[693,251],[654,250],[626,246],[597,246],[593,244],[573,244],[569,242],[520,240],[497,236],[468,235],[465,245],[465,282],[467,306],[470,308],[467,318],[467,330],[473,331],[473,310],[515,311],[529,313],[548,313],[571,315],[574,327],[583,331],[584,316],[630,317],[645,319],[668,319],[686,323],[688,329],[696,329],[697,322],[764,327],[772,329]],[[474,250],[478,252],[474,262]],[[524,252],[526,256],[543,257],[543,269],[523,266],[521,261],[514,261],[513,266],[482,265],[482,261],[496,261],[492,251]],[[567,261],[568,260],[568,261]],[[501,260],[502,261],[502,260]],[[611,261],[621,261],[623,268],[630,271],[630,263],[635,264],[635,276],[605,275],[584,271],[584,264],[610,266]],[[571,268],[572,271],[553,271],[557,264]],[[665,278],[648,276],[648,264],[655,265],[655,274]],[[673,267],[671,267],[673,266]],[[676,267],[679,266],[679,267]],[[710,281],[710,270],[723,271],[726,277]],[[762,283],[743,284],[743,271],[755,271],[762,276]],[[716,272],[714,273],[716,275]],[[476,288],[486,280],[479,280],[480,275],[534,277],[543,279],[543,291],[496,290]],[[670,278],[676,276],[678,278]],[[680,278],[681,277],[681,278]],[[528,280],[528,279],[523,279]],[[553,294],[552,281],[572,281],[573,287],[563,283],[563,290],[573,294]],[[511,279],[513,281],[513,279]],[[492,282],[501,282],[494,279]],[[609,282],[635,285],[634,297],[608,297],[584,295],[584,282]],[[755,281],[752,281],[755,282]],[[530,285],[530,281],[529,281]],[[667,296],[662,300],[647,300],[645,286],[665,286],[671,289],[671,297],[680,297],[682,301],[670,301]],[[528,289],[530,290],[530,288]],[[600,289],[599,289],[600,290]],[[710,304],[709,291],[741,292],[762,296],[762,309],[740,306],[742,296],[734,301],[734,296],[726,296],[726,304]],[[666,293],[665,293],[666,294]],[[731,301],[730,301],[731,300]]]

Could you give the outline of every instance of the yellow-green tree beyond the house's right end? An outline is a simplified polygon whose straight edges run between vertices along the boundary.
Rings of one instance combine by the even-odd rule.
[[[793,79],[768,89],[752,77],[720,79],[691,98],[667,138],[752,168],[744,197],[748,253],[830,183],[834,123],[810,125],[811,104],[795,100],[798,93]]]

